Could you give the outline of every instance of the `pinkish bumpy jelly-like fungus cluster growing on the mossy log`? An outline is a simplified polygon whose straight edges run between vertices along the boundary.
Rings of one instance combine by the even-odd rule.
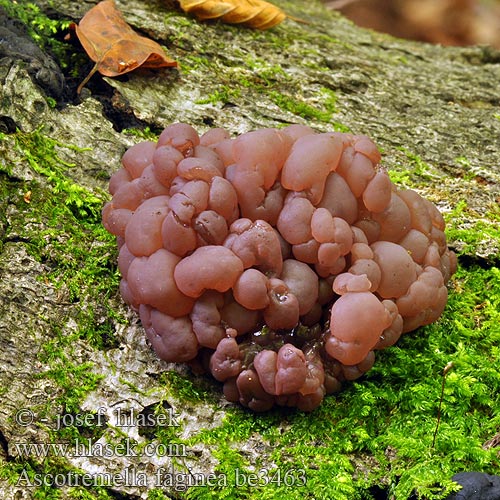
[[[437,208],[365,136],[167,127],[123,156],[103,223],[121,294],[161,358],[230,401],[310,411],[435,321],[456,258]]]

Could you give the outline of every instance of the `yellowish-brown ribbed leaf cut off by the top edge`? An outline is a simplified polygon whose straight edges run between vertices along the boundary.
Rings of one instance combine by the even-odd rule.
[[[264,0],[180,0],[180,5],[198,19],[220,19],[260,30],[272,28],[287,17],[279,7]]]

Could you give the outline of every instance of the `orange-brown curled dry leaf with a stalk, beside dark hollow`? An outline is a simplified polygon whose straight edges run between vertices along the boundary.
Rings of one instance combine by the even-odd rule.
[[[113,0],[103,0],[90,9],[80,24],[73,24],[85,52],[96,64],[79,85],[78,92],[99,71],[104,76],[118,76],[144,68],[177,66],[161,45],[138,35],[125,21]]]

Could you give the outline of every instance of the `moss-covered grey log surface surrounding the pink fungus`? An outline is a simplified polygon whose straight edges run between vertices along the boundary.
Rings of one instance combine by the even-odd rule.
[[[53,63],[0,52],[0,496],[444,498],[454,473],[500,470],[500,53],[397,40],[320,2],[276,1],[306,23],[261,32],[120,0],[180,68],[96,75],[77,97],[91,65],[60,27],[96,3],[0,0],[28,31],[59,26],[38,43],[66,77],[61,92]],[[100,209],[126,148],[176,121],[374,139],[459,253],[441,320],[311,414],[249,413],[159,361],[120,299]],[[23,448],[48,443],[63,448]]]

